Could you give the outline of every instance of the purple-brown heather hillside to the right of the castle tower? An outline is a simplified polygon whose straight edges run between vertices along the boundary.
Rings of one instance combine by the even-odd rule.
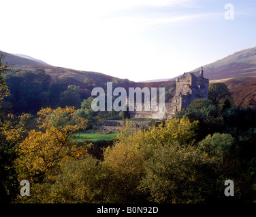
[[[223,82],[227,85],[235,104],[256,109],[256,47],[241,50],[203,67],[204,77],[210,79],[210,83]],[[199,68],[191,72],[199,73]]]

